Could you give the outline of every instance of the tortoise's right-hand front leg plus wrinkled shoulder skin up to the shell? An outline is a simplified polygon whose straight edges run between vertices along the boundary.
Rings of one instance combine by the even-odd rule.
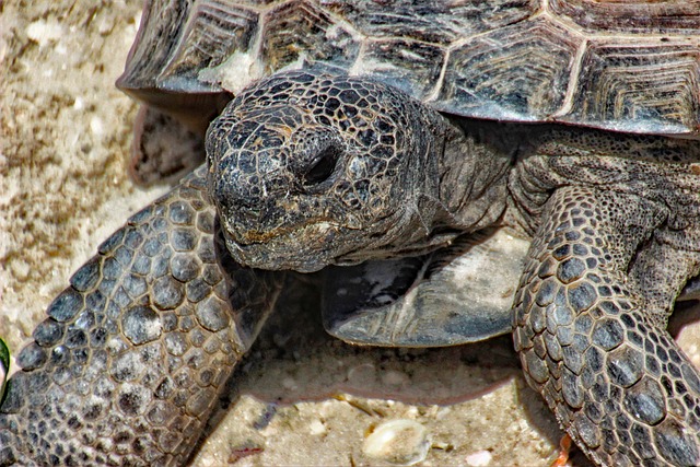
[[[700,267],[698,149],[593,140],[603,154],[638,153],[626,159],[556,140],[512,177],[524,203],[553,188],[528,208],[542,212],[514,303],[525,375],[597,464],[698,465],[700,380],[666,332]]]

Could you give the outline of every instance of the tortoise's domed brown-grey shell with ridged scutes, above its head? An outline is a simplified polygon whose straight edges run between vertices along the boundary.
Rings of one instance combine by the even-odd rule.
[[[151,0],[117,84],[195,108],[326,67],[465,117],[698,137],[699,65],[700,0]]]

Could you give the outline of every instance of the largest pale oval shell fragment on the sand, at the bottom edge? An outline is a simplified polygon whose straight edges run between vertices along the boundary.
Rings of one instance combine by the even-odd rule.
[[[374,429],[362,452],[377,460],[410,466],[424,460],[430,446],[425,427],[412,420],[392,420]]]

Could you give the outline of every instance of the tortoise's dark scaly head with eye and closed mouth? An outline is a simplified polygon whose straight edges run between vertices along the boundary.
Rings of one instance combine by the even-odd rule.
[[[293,71],[255,83],[207,132],[229,250],[247,266],[305,272],[420,253],[444,126],[366,79]]]

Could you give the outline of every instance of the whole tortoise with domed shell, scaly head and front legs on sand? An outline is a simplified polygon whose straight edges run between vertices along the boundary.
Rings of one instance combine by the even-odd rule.
[[[700,269],[697,10],[148,2],[118,84],[208,127],[207,160],[49,305],[0,465],[184,462],[289,278],[315,271],[334,335],[512,331],[595,464],[698,465],[700,378],[665,330]],[[512,307],[443,300],[469,291],[448,280],[469,238],[504,226],[532,238]]]

